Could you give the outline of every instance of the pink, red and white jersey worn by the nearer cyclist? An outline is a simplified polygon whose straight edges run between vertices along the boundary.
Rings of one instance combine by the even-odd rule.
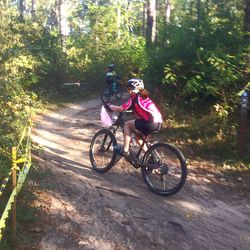
[[[136,116],[146,121],[162,123],[162,115],[149,97],[143,99],[140,95],[133,95],[122,108],[132,109]]]

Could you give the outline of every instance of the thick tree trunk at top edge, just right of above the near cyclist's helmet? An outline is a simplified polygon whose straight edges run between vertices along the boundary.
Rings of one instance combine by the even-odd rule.
[[[146,42],[150,45],[156,39],[156,0],[147,0]]]

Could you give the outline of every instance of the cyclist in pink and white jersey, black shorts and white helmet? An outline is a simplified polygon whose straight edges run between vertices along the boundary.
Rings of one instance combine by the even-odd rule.
[[[131,140],[131,132],[140,131],[144,135],[148,135],[153,131],[159,130],[162,124],[162,115],[153,101],[149,98],[149,92],[144,88],[142,79],[132,78],[127,82],[127,89],[130,99],[116,106],[107,104],[108,108],[122,112],[124,110],[132,110],[136,119],[125,122],[124,125],[124,149],[123,156],[129,159],[129,143]]]

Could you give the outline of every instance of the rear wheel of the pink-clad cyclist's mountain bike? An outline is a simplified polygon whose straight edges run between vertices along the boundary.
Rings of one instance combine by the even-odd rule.
[[[142,177],[152,192],[163,196],[174,195],[186,181],[185,157],[173,145],[156,143],[145,153]]]

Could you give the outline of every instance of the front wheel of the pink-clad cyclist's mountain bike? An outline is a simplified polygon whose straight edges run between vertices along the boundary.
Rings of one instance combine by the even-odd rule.
[[[93,169],[98,173],[107,172],[116,161],[117,141],[108,129],[98,131],[90,143],[89,159]]]

